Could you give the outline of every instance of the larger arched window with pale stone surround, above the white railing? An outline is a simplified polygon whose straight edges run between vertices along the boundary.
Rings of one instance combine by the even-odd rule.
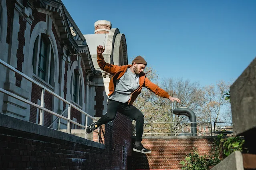
[[[45,34],[39,34],[33,49],[33,73],[54,87],[54,54]]]

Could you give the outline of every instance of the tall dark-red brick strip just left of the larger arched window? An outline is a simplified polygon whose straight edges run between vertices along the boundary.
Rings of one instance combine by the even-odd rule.
[[[24,61],[24,53],[23,53],[23,48],[25,45],[25,38],[24,38],[24,34],[25,34],[25,30],[26,30],[26,20],[23,20],[23,16],[20,15],[19,18],[19,24],[20,24],[20,31],[18,32],[18,49],[17,49],[17,67],[16,69],[18,69],[18,71],[22,72],[22,63]],[[21,81],[22,81],[22,76],[15,73],[15,77],[16,77],[16,86],[20,87]]]

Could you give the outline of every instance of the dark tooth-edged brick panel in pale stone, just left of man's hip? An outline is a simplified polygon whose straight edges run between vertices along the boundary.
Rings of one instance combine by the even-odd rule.
[[[94,97],[94,100],[96,101],[96,105],[94,105],[95,109],[95,117],[102,117],[102,111],[104,109],[103,101],[104,96],[103,92],[105,91],[104,86],[95,86],[96,96]]]

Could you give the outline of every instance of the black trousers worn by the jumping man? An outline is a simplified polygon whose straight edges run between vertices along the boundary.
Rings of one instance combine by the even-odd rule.
[[[99,127],[105,123],[113,121],[117,112],[136,121],[136,141],[141,141],[144,115],[139,111],[139,109],[133,105],[128,105],[128,103],[121,103],[109,99],[109,103],[107,104],[107,113],[96,122],[96,125]]]

